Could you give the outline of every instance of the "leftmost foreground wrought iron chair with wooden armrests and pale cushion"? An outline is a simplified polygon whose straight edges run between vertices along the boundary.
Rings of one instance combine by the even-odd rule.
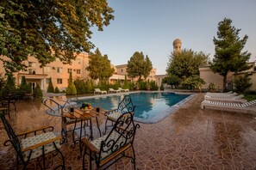
[[[16,135],[3,113],[0,113],[0,117],[9,136],[9,140],[5,141],[3,144],[4,146],[9,146],[9,143],[11,143],[13,148],[16,150],[17,169],[20,164],[23,164],[22,169],[26,169],[28,162],[35,158],[37,159],[41,169],[46,169],[45,157],[50,153],[53,155],[61,155],[62,164],[55,168],[61,167],[61,169],[65,169],[64,157],[59,150],[60,140],[62,137],[56,137],[53,134],[53,126],[42,127]],[[34,136],[31,137],[33,133]],[[20,137],[23,138],[20,139]],[[39,160],[39,157],[41,156],[43,160],[42,166]]]

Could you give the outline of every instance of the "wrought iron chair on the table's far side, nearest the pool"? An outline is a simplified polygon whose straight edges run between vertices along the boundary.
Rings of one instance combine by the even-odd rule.
[[[114,110],[109,110],[104,113],[107,117],[105,122],[105,133],[108,127],[113,126],[114,122],[116,122],[117,118],[119,118],[123,113],[132,112],[134,113],[135,106],[133,104],[132,98],[129,95],[125,95],[122,101],[118,104],[117,108]],[[111,121],[111,125],[108,125],[108,121]]]

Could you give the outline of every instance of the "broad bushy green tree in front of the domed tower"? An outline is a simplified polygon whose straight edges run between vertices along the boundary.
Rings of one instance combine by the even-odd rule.
[[[184,49],[181,52],[172,52],[166,72],[168,76],[178,77],[199,75],[199,66],[208,63],[209,55]]]

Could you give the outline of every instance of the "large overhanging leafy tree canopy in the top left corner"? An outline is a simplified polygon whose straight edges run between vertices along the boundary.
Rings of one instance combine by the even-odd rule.
[[[0,1],[0,60],[7,72],[25,70],[28,55],[41,66],[90,52],[91,27],[103,31],[114,19],[107,0]],[[3,57],[5,56],[5,57]]]

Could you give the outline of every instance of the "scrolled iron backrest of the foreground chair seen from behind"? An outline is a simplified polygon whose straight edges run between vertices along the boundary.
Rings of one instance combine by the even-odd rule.
[[[109,135],[101,142],[99,156],[97,161],[103,161],[109,156],[130,147],[134,143],[134,136],[139,124],[134,124],[133,113],[122,114],[109,132]],[[126,149],[126,148],[125,148]]]

